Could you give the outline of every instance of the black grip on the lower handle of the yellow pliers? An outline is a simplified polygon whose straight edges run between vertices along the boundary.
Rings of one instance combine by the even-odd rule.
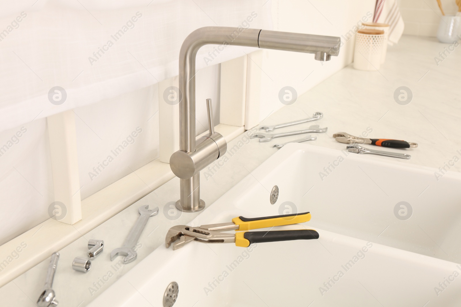
[[[312,229],[275,230],[270,232],[245,232],[243,237],[250,241],[250,244],[253,244],[264,242],[318,239],[319,233]]]

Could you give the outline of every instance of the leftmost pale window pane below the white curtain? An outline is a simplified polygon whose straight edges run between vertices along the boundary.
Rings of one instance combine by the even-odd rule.
[[[49,219],[53,177],[45,118],[0,133],[0,195],[0,245]]]

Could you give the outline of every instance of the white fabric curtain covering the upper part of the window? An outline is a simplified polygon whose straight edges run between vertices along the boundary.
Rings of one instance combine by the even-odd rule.
[[[0,131],[177,75],[179,48],[190,32],[210,25],[270,29],[270,2],[265,2],[4,1]],[[212,49],[201,49],[197,69],[253,50],[229,46],[206,63]],[[67,95],[60,105],[48,99],[56,86]]]

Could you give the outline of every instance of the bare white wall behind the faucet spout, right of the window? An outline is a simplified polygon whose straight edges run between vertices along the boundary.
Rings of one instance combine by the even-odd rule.
[[[373,13],[374,6],[375,0],[274,1],[274,30],[331,36],[346,35],[362,17],[366,17],[367,12]],[[263,120],[271,112],[284,107],[278,99],[282,87],[295,88],[299,96],[350,64],[354,42],[354,39],[345,42],[339,56],[331,57],[330,61],[324,63],[314,60],[313,54],[310,53],[265,50],[261,74],[260,119]],[[306,112],[312,116],[312,110]],[[306,117],[306,114],[300,114],[296,119]]]

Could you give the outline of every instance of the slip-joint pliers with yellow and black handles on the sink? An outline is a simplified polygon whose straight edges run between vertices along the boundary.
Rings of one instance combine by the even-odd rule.
[[[165,237],[166,248],[173,243],[173,250],[183,247],[191,241],[202,243],[235,243],[236,246],[248,247],[252,243],[277,242],[290,240],[318,239],[319,233],[312,229],[276,230],[259,232],[236,232],[258,228],[304,223],[311,219],[309,212],[299,214],[284,214],[260,218],[245,218],[239,216],[230,223],[219,223],[191,227],[186,225],[173,226]]]

